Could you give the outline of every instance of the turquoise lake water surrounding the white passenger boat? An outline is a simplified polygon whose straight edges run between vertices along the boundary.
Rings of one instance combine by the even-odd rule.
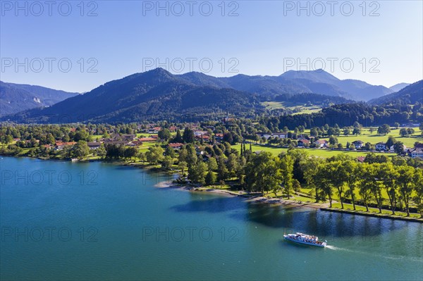
[[[0,160],[1,280],[422,280],[423,225],[154,187],[111,163]],[[325,249],[283,240],[326,239]]]

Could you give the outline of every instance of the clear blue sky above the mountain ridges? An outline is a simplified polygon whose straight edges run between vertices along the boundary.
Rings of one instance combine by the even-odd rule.
[[[157,1],[85,1],[83,11],[80,2],[21,1],[19,9],[16,1],[1,1],[1,80],[87,92],[159,66],[157,59],[173,73],[232,76],[232,67],[280,75],[325,66],[341,79],[386,87],[423,79],[423,1],[336,1],[332,7],[302,1],[304,10],[298,1],[161,1],[164,10]],[[23,64],[17,69],[16,59]]]

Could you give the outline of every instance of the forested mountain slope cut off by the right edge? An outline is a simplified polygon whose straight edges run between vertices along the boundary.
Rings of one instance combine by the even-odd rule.
[[[423,103],[423,80],[401,89],[399,92],[372,99],[369,104],[415,104]]]

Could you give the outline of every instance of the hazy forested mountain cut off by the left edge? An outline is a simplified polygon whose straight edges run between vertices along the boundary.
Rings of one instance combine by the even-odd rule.
[[[51,106],[76,95],[78,93],[0,81],[0,115],[18,113],[30,108]]]

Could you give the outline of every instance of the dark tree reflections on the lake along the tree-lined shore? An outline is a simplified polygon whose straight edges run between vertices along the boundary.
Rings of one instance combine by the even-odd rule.
[[[354,216],[345,213],[320,211],[314,208],[278,206],[243,200],[239,197],[205,196],[202,193],[192,193],[191,200],[186,204],[171,207],[178,212],[223,213],[230,218],[259,223],[266,227],[281,230],[281,232],[304,232],[328,241],[333,239],[352,239],[353,237],[378,237],[385,232],[400,230],[409,222]]]

